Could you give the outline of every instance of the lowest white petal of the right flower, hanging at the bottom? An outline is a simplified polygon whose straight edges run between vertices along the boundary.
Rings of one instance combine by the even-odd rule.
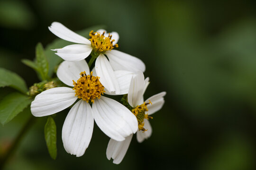
[[[125,140],[121,142],[115,141],[114,139],[110,139],[106,152],[107,158],[109,160],[112,158],[114,160],[113,163],[119,164],[123,160],[128,150],[132,136],[133,134],[126,137]]]

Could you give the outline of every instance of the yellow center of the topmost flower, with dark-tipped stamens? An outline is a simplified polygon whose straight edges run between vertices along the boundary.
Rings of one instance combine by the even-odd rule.
[[[113,42],[115,40],[111,40],[112,35],[104,36],[105,31],[103,34],[100,34],[99,32],[90,32],[90,41],[91,41],[91,47],[94,52],[96,53],[104,53],[108,50],[112,50],[114,47],[118,47],[118,44],[113,45]]]

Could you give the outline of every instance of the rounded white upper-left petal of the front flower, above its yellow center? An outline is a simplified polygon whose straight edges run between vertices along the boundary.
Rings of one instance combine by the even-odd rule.
[[[90,69],[84,59],[80,61],[63,61],[57,69],[57,76],[64,84],[73,86],[73,80],[76,82],[80,78],[82,71],[90,74]]]

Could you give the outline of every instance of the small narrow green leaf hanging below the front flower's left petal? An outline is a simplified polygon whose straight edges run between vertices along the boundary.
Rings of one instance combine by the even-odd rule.
[[[45,125],[45,139],[50,156],[55,160],[57,157],[56,124],[51,116],[48,116]]]

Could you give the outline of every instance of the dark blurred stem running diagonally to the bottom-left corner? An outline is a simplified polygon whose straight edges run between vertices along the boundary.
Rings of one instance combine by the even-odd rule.
[[[27,123],[22,127],[18,136],[14,139],[13,143],[9,146],[9,149],[3,155],[2,159],[0,160],[0,170],[3,170],[5,164],[9,161],[11,155],[17,149],[18,144],[20,143],[21,139],[26,135],[27,131],[30,127],[34,124],[36,117],[31,115],[31,117],[27,120]]]

